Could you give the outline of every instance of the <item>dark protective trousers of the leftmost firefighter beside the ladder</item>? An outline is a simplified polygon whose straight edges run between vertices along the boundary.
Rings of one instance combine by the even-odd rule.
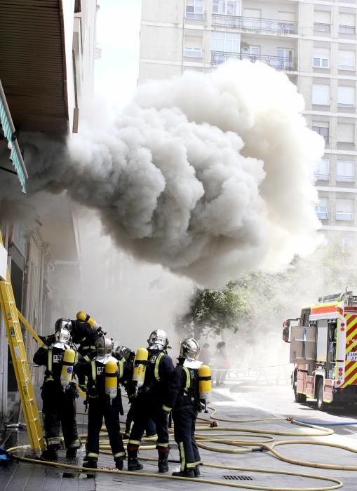
[[[51,380],[43,384],[41,397],[47,447],[53,449],[61,447],[60,427],[62,425],[65,447],[79,448],[81,442],[76,424],[76,391],[74,387],[69,386],[64,391],[60,384]]]

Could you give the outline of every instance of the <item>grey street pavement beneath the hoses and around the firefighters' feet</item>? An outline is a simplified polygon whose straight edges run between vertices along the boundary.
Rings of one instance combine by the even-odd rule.
[[[280,382],[280,383],[279,383]],[[286,380],[266,379],[259,374],[250,372],[240,375],[238,378],[227,379],[223,386],[215,386],[213,391],[213,406],[217,408],[217,417],[229,419],[258,419],[264,417],[293,416],[309,419],[313,422],[346,422],[356,419],[356,406],[349,409],[336,408],[328,412],[320,412],[315,409],[313,401],[306,404],[297,404],[293,399],[290,386]],[[205,416],[205,415],[203,415]],[[81,433],[86,432],[86,416],[79,416]],[[199,423],[198,423],[199,424]],[[218,422],[219,429],[224,426],[239,426],[242,428],[264,429],[268,431],[291,431],[296,436],[274,436],[275,440],[319,440],[326,443],[339,443],[357,449],[356,426],[334,427],[335,434],[323,437],[304,437],[307,429],[292,425],[288,421],[272,421],[257,423],[227,423]],[[213,433],[213,434],[211,434]],[[214,436],[212,431],[210,436]],[[228,437],[229,438],[229,437]],[[235,437],[236,438],[236,437]],[[246,438],[246,437],[244,437]],[[252,438],[254,439],[254,438]],[[11,433],[6,445],[26,443],[26,433]],[[220,448],[232,448],[227,445],[213,443]],[[170,459],[178,460],[177,445],[173,443],[170,450]],[[283,455],[292,459],[309,462],[334,463],[357,466],[357,455],[345,450],[328,448],[316,445],[282,445],[277,448]],[[278,471],[292,471],[295,473],[309,473],[319,476],[330,476],[344,482],[343,490],[357,490],[357,471],[335,471],[307,466],[298,466],[282,462],[270,452],[254,452],[245,454],[229,454],[200,450],[204,463],[221,464],[226,466],[241,466],[248,470],[236,471],[229,469],[215,469],[203,465],[201,467],[202,478],[218,480],[223,483],[236,483],[255,486],[277,487],[286,490],[288,487],[301,489],[310,487],[328,487],[328,481],[302,478],[298,476],[283,476],[279,474],[257,473],[254,469],[274,469]],[[156,457],[156,450],[141,450],[142,457]],[[84,456],[82,448],[79,455],[79,463]],[[111,456],[101,456],[100,466],[114,469],[114,461]],[[157,473],[156,462],[144,461],[144,471]],[[178,470],[178,464],[170,464],[170,472]],[[130,490],[159,489],[179,490],[185,487],[187,490],[223,490],[224,485],[209,485],[207,483],[194,483],[182,480],[168,480],[163,478],[148,478],[140,476],[127,476],[117,474],[97,474],[95,478],[87,478],[85,474],[70,474],[66,477],[63,469],[55,469],[48,466],[39,466],[14,462],[6,468],[0,468],[0,490],[4,491],[109,491],[118,488]],[[225,487],[227,489],[227,487]]]

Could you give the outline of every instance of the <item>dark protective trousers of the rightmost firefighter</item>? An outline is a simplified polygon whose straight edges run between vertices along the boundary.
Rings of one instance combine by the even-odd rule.
[[[194,469],[201,463],[194,438],[197,410],[186,406],[173,410],[174,436],[180,451],[181,471]]]

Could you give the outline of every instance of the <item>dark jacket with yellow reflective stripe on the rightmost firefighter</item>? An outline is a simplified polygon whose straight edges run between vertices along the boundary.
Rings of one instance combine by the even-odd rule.
[[[201,362],[188,362],[186,358],[179,358],[179,363],[168,382],[163,410],[201,409],[198,394],[198,367],[201,364]]]

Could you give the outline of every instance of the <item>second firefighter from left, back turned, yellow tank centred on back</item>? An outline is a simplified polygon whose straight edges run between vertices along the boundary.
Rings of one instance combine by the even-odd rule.
[[[83,467],[97,469],[99,457],[99,434],[103,417],[112,448],[116,469],[123,470],[125,451],[119,432],[119,413],[123,414],[119,382],[123,379],[123,362],[112,356],[113,342],[108,337],[101,336],[95,342],[97,356],[90,363],[79,363],[76,372],[79,382],[88,377],[88,436],[86,443],[86,459]],[[107,391],[107,368],[109,363],[116,365],[116,384],[114,394]],[[114,372],[109,377],[114,377]]]

